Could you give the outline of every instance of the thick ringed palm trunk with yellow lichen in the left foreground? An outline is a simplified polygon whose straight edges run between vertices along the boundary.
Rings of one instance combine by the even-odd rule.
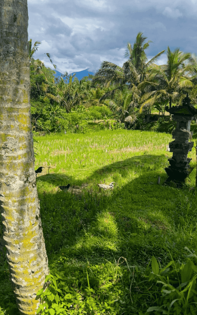
[[[3,243],[20,314],[35,314],[48,258],[34,171],[27,0],[0,0],[0,206]]]

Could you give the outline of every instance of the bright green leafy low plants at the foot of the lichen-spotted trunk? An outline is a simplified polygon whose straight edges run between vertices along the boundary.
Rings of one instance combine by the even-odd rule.
[[[117,284],[114,286],[113,292],[109,294],[109,292],[106,292],[107,286],[99,286],[101,284],[101,280],[98,278],[100,270],[100,278],[104,279],[109,286],[112,275],[110,275],[110,278],[109,276],[106,277],[106,272],[109,273],[109,269],[104,264],[102,266],[86,264],[83,268],[76,270],[76,277],[70,273],[66,275],[65,271],[51,268],[53,274],[45,277],[45,281],[48,283],[47,289],[45,291],[40,289],[37,293],[36,299],[42,299],[37,314],[93,315],[95,312],[98,312],[98,314],[105,312],[116,314],[120,304],[120,299],[117,299],[117,297],[121,293],[121,284],[117,282],[119,273],[116,272],[115,277],[113,277],[113,284]],[[88,272],[90,272],[91,277],[89,277]]]

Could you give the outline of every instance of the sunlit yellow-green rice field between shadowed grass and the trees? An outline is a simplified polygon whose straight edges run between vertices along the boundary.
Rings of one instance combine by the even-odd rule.
[[[66,173],[68,177],[72,176],[73,180],[84,180],[93,171],[104,166],[116,169],[116,163],[128,165],[132,173],[140,164],[140,160],[143,160],[136,175],[138,176],[150,165],[151,169],[156,170],[160,167],[161,170],[169,165],[167,159],[172,156],[166,148],[173,139],[170,134],[165,133],[108,130],[88,135],[48,135],[36,139],[38,143],[35,143],[37,148],[35,152],[38,153],[38,157],[35,168],[41,165],[46,167],[43,175],[44,172],[48,173],[50,166],[49,174]],[[191,165],[195,164],[194,148],[188,157],[192,157]],[[98,176],[98,180],[101,179]]]

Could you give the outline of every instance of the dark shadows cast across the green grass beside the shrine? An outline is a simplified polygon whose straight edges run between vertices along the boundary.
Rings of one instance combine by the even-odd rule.
[[[84,192],[81,200],[62,191],[52,198],[51,192],[39,194],[49,260],[63,251],[67,258],[77,261],[114,262],[124,256],[131,264],[146,266],[152,255],[164,264],[170,261],[168,249],[175,259],[183,260],[181,250],[187,244],[191,247],[191,240],[177,236],[180,192],[157,185],[158,176],[161,183],[167,177],[165,170],[156,170],[167,158],[165,153],[131,157],[100,168],[84,180],[72,178],[71,182],[65,174],[40,176],[37,180],[52,186],[68,182],[81,186],[85,182],[96,185],[112,173],[113,181],[118,182],[130,169],[135,175],[144,172],[113,191],[99,193],[96,186]]]

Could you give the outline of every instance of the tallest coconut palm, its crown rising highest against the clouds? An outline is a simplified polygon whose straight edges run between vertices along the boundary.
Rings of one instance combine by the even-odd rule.
[[[100,101],[104,99],[113,99],[115,92],[117,90],[122,90],[122,88],[126,86],[132,93],[132,106],[134,107],[138,105],[141,93],[137,88],[138,84],[146,78],[150,66],[154,64],[154,62],[158,60],[159,56],[165,52],[165,50],[162,50],[159,54],[148,61],[144,50],[148,48],[150,41],[142,46],[147,38],[142,37],[142,34],[142,32],[137,34],[133,49],[131,48],[131,44],[128,43],[127,48],[129,50],[130,57],[122,67],[109,61],[103,61],[101,68],[95,73],[92,84],[101,83],[106,88],[108,88],[111,83],[116,85],[116,88],[105,93],[105,95],[100,98]],[[125,57],[129,54],[128,52],[125,53]]]

